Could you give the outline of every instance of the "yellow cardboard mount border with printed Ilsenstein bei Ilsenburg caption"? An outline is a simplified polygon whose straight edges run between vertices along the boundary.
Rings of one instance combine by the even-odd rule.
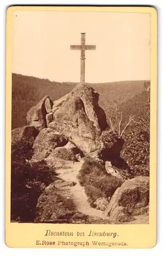
[[[11,91],[12,91],[12,15],[13,11],[91,11],[132,12],[151,14],[151,120],[150,120],[150,214],[149,224],[34,224],[10,222],[11,182]],[[6,245],[21,248],[152,248],[156,245],[156,168],[157,168],[157,11],[153,7],[65,7],[13,6],[7,10],[6,26]],[[74,232],[74,237],[45,237],[45,230]],[[88,237],[90,230],[117,232],[115,239]],[[76,232],[85,232],[84,237]],[[36,245],[36,240],[55,241],[55,245]],[[57,241],[126,242],[127,246],[58,246]]]

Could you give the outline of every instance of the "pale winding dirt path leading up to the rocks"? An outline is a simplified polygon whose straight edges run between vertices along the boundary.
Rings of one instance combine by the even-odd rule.
[[[79,212],[82,214],[89,215],[89,216],[96,216],[101,219],[108,219],[105,215],[105,212],[102,210],[97,210],[95,208],[90,207],[88,203],[87,196],[84,191],[84,187],[79,184],[79,180],[77,175],[81,166],[83,164],[83,160],[80,162],[73,163],[70,168],[61,168],[58,169],[56,172],[58,176],[64,181],[75,181],[77,184],[73,187],[70,187],[70,195],[73,198],[73,201],[77,207]]]

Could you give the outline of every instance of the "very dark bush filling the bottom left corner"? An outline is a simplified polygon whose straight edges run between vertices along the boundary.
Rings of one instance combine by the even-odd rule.
[[[29,145],[12,147],[11,221],[33,222],[38,197],[55,179],[55,172],[44,161],[29,163]]]

